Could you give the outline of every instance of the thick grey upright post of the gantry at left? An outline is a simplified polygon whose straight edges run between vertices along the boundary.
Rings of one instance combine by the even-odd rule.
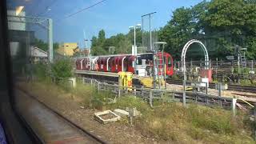
[[[53,20],[48,19],[48,42],[49,42],[49,62],[54,62],[54,42],[53,42]]]

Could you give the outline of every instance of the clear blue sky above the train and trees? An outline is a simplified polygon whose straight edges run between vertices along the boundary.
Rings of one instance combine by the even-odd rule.
[[[19,2],[22,0],[13,0]],[[67,15],[86,8],[100,0],[23,0],[26,2],[26,15],[53,18],[54,42],[82,43],[83,30],[86,38],[106,31],[106,37],[118,33],[127,33],[129,26],[141,23],[142,14],[156,11],[152,20],[155,29],[165,26],[172,11],[185,6],[194,6],[202,0],[106,0],[101,4],[75,14]],[[18,4],[17,4],[18,5]],[[48,7],[47,7],[48,6]],[[50,10],[47,10],[50,9]],[[39,38],[46,38],[42,28],[35,30]]]

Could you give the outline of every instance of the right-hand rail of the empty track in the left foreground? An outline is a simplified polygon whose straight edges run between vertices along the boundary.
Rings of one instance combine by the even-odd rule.
[[[20,87],[18,87],[18,90],[20,90],[22,93],[26,94],[29,98],[38,102],[40,105],[45,107],[46,110],[49,110],[50,113],[54,114],[58,118],[58,121],[62,121],[65,125],[70,126],[70,129],[74,129],[75,131],[78,131],[78,133],[82,135],[83,139],[86,138],[85,142],[107,143],[107,142],[103,141],[101,138],[98,138],[96,135],[90,133],[90,131],[88,131],[88,130],[82,128],[81,126],[78,126],[76,123],[70,121],[70,119],[68,119],[65,116],[63,116],[62,114],[58,113],[58,111],[52,109],[50,106],[47,106],[44,102],[42,102],[38,98],[34,97],[33,95],[31,95],[26,90],[22,90],[22,88],[20,88]],[[63,127],[66,127],[66,126],[63,126]]]

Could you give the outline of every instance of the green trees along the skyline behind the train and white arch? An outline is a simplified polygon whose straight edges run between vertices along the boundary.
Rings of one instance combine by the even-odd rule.
[[[238,45],[248,49],[248,58],[255,59],[256,1],[204,0],[195,6],[180,7],[174,10],[166,26],[155,30],[154,33],[158,33],[158,41],[167,42],[165,50],[175,59],[180,59],[183,46],[192,38],[206,44],[210,58],[234,55],[234,46]],[[148,32],[143,34],[149,35]],[[130,53],[133,44],[134,30],[110,38],[106,38],[105,31],[100,30],[98,37],[92,38],[92,54],[126,54]],[[136,44],[142,46],[140,29],[136,30]],[[195,58],[198,58],[197,50],[194,54]]]

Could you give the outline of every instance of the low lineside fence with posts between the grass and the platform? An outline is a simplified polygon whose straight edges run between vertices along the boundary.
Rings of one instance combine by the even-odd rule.
[[[178,90],[158,90],[145,88],[143,86],[118,86],[117,83],[99,82],[92,78],[82,78],[83,84],[90,84],[97,88],[98,91],[111,91],[120,98],[123,95],[134,95],[142,98],[154,107],[154,102],[183,102],[183,91]],[[233,114],[236,113],[237,98],[219,97],[210,94],[202,94],[198,92],[186,92],[186,103],[197,103],[204,106],[221,107],[226,110],[232,110]],[[240,103],[240,105],[245,105]]]

